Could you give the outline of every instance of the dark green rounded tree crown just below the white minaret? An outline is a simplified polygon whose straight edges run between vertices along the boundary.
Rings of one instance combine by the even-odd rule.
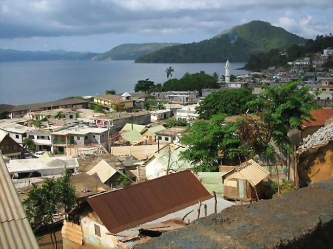
[[[196,108],[201,119],[210,119],[213,115],[228,116],[244,114],[246,103],[254,100],[254,95],[245,88],[220,90],[205,97]]]

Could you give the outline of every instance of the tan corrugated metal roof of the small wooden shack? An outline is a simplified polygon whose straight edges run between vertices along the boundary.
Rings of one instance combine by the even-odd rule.
[[[235,173],[230,175],[231,178],[248,180],[252,187],[256,186],[269,175],[267,170],[252,159],[243,163],[240,168],[236,168],[235,171]]]

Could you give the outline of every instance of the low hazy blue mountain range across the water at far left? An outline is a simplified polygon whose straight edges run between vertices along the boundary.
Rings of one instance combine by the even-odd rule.
[[[51,51],[18,51],[12,49],[0,49],[0,61],[39,61],[39,60],[89,60],[96,56],[91,52],[68,52],[65,50]]]

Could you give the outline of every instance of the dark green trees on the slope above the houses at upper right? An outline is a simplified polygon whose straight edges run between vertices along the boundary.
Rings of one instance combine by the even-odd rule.
[[[314,53],[322,53],[323,49],[333,46],[332,36],[317,36],[315,40],[309,39],[304,46],[293,44],[286,50],[287,55],[281,55],[279,49],[272,49],[268,52],[260,52],[251,55],[246,65],[247,70],[259,71],[269,66],[283,66],[288,61],[295,61]]]

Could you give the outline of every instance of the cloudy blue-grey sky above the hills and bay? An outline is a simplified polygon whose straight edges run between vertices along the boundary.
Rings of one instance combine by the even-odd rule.
[[[333,33],[332,13],[333,0],[0,0],[0,49],[188,43],[252,20],[315,38]]]

